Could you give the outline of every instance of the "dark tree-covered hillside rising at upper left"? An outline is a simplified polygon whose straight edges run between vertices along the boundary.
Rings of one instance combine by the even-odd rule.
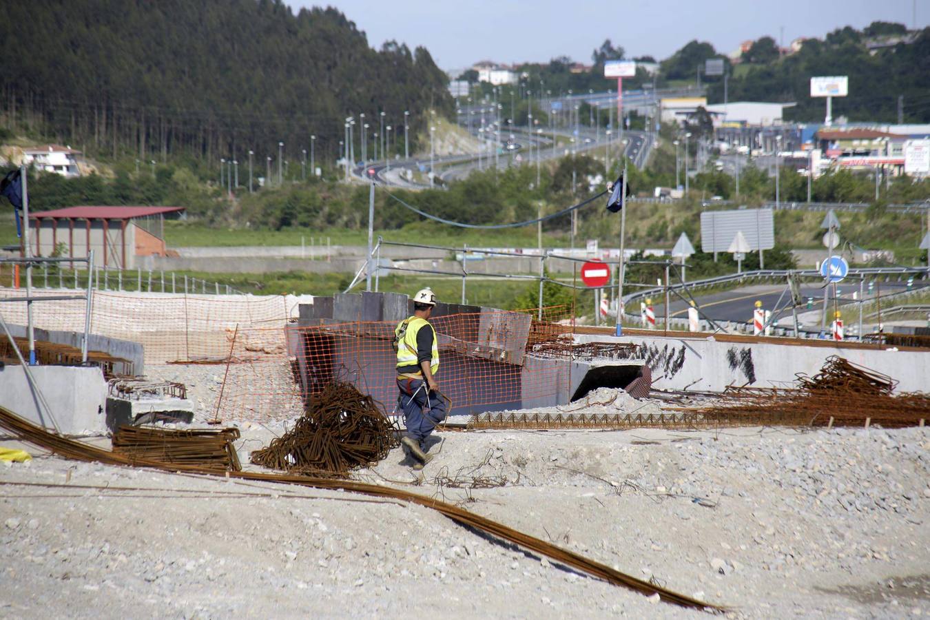
[[[375,51],[339,10],[280,0],[9,3],[0,58],[8,125],[113,157],[298,157],[311,135],[335,156],[347,115],[409,110],[413,135],[451,109],[425,48]]]

